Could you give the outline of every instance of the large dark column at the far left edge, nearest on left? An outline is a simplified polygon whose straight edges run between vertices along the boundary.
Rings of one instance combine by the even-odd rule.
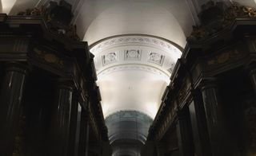
[[[0,95],[0,155],[10,156],[21,113],[22,94],[27,68],[22,64],[8,64]]]

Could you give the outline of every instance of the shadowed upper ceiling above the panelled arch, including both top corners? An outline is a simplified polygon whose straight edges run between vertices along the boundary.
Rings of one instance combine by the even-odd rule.
[[[59,2],[60,0],[52,1]],[[73,22],[78,27],[78,36],[88,41],[89,45],[105,37],[141,33],[166,38],[183,48],[186,45],[185,38],[190,35],[191,25],[198,24],[197,14],[201,10],[200,6],[208,1],[66,0],[73,6]],[[244,6],[256,7],[256,0],[213,1],[239,2]],[[0,11],[14,15],[19,11],[41,6],[47,2],[50,0],[0,0]],[[134,15],[135,18],[133,18]],[[155,18],[156,16],[158,18]],[[114,28],[113,23],[116,24]],[[127,23],[129,24],[127,25]],[[102,33],[104,25],[108,31]],[[178,31],[172,31],[172,29]],[[178,33],[181,35],[177,36]]]

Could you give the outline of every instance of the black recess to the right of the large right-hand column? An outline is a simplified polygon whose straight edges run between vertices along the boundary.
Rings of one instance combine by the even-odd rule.
[[[256,101],[249,74],[238,71],[226,73],[228,75],[220,79],[219,92],[233,150],[251,155],[256,154]]]

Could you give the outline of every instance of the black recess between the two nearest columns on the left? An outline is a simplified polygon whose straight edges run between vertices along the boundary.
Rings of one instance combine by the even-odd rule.
[[[56,95],[54,80],[34,68],[27,77],[14,152],[26,156],[49,155],[51,110]]]

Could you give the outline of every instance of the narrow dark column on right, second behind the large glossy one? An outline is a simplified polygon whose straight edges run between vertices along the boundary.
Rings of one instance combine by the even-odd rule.
[[[178,111],[178,123],[176,128],[180,155],[194,156],[190,114],[187,107],[183,107],[182,110]]]

